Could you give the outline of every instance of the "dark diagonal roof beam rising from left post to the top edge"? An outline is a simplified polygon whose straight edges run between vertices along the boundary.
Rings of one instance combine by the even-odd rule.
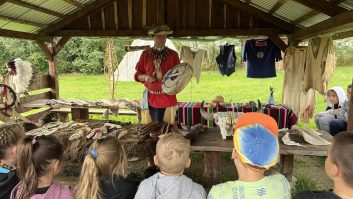
[[[43,29],[39,32],[40,35],[46,35],[49,33],[52,33],[54,31],[59,30],[60,28],[70,24],[71,22],[75,21],[76,19],[83,17],[95,10],[98,10],[102,7],[104,7],[105,5],[107,5],[108,3],[111,3],[111,0],[97,0],[87,6],[85,6],[84,8],[82,8],[81,10],[66,16],[65,18],[63,18],[62,20],[60,20],[59,22],[55,23],[55,24],[51,24],[50,26],[48,26],[46,29]]]

